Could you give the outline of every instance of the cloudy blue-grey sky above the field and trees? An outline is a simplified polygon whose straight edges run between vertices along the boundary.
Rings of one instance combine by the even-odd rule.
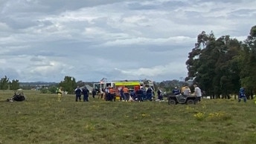
[[[255,0],[0,0],[0,78],[183,80],[202,31],[240,41]]]

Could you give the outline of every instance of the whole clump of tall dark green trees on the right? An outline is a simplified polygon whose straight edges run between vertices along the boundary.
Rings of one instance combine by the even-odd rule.
[[[212,98],[230,98],[240,87],[253,99],[256,92],[256,25],[243,42],[230,36],[215,38],[202,31],[185,62],[188,76]]]

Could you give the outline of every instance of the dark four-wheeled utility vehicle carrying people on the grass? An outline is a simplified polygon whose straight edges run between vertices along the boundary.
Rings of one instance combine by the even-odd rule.
[[[196,104],[196,96],[183,96],[182,94],[168,96],[169,105],[176,105],[178,103],[187,105]]]

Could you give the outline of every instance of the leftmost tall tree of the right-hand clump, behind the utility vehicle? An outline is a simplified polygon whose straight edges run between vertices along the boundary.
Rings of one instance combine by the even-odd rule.
[[[199,86],[212,95],[212,76],[214,75],[215,56],[211,53],[214,49],[215,36],[214,33],[206,34],[202,31],[197,36],[195,48],[188,53],[186,62],[188,68],[188,77],[185,80],[193,79],[199,83]]]

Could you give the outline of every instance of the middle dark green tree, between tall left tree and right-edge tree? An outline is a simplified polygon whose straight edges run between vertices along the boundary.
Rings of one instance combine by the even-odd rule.
[[[215,94],[223,98],[230,98],[230,94],[237,92],[240,87],[240,70],[238,64],[233,61],[240,52],[241,43],[237,39],[230,39],[230,36],[221,36],[217,39],[216,49],[219,50],[219,57],[215,65],[214,86]]]

